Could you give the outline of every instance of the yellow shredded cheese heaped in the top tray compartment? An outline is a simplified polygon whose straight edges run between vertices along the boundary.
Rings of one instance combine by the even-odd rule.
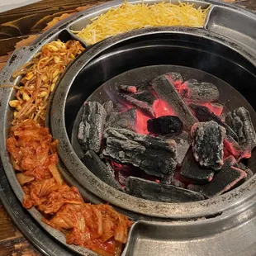
[[[154,5],[129,4],[125,2],[120,7],[111,8],[100,17],[92,19],[82,31],[74,31],[88,45],[97,43],[109,36],[116,36],[127,31],[148,26],[204,26],[209,7],[202,10],[193,4],[178,5],[169,2],[159,2]]]

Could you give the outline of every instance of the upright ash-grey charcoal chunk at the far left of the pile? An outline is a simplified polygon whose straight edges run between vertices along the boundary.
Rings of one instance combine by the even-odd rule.
[[[78,127],[78,142],[84,151],[100,151],[106,116],[107,113],[99,102],[84,103]]]

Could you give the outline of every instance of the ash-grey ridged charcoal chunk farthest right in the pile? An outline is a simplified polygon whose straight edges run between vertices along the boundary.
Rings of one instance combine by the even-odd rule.
[[[248,110],[244,107],[239,107],[235,111],[230,111],[226,115],[225,121],[238,135],[239,145],[248,151],[254,149],[256,133]]]

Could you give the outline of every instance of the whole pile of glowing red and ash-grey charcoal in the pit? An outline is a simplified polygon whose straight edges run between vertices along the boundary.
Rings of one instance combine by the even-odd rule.
[[[117,104],[85,102],[78,128],[83,163],[135,197],[185,202],[216,197],[254,173],[249,111],[223,111],[212,83],[166,73],[117,88]]]

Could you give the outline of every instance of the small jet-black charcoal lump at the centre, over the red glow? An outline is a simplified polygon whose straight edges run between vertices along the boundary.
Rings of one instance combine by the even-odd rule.
[[[147,129],[149,133],[158,135],[180,134],[183,130],[183,122],[178,116],[160,116],[149,119]]]

